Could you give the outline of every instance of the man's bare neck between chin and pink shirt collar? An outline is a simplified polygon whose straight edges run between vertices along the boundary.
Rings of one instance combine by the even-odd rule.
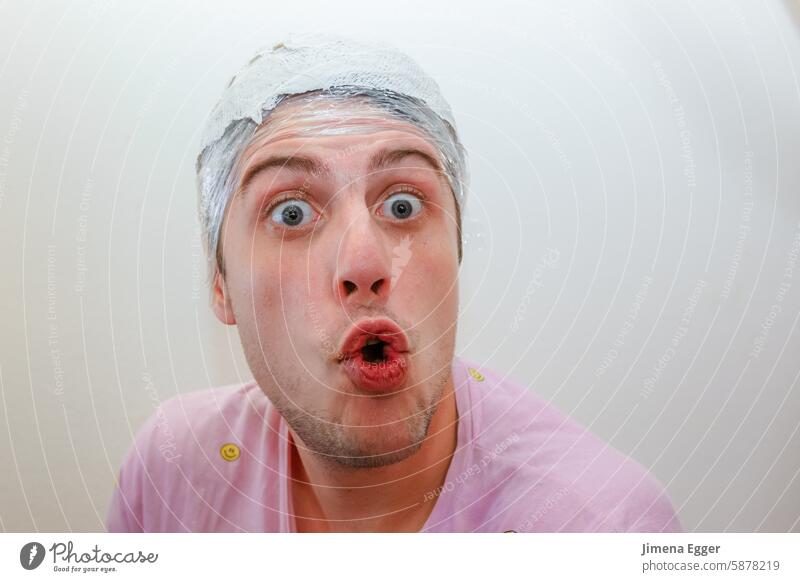
[[[297,531],[419,531],[433,510],[458,440],[452,377],[420,449],[370,469],[334,465],[296,447],[289,429]]]

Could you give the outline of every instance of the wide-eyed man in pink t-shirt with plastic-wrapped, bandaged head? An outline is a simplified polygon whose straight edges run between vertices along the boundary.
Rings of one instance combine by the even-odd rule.
[[[198,158],[212,308],[254,381],[140,430],[110,531],[677,531],[660,485],[454,357],[466,163],[388,47],[257,54]]]

